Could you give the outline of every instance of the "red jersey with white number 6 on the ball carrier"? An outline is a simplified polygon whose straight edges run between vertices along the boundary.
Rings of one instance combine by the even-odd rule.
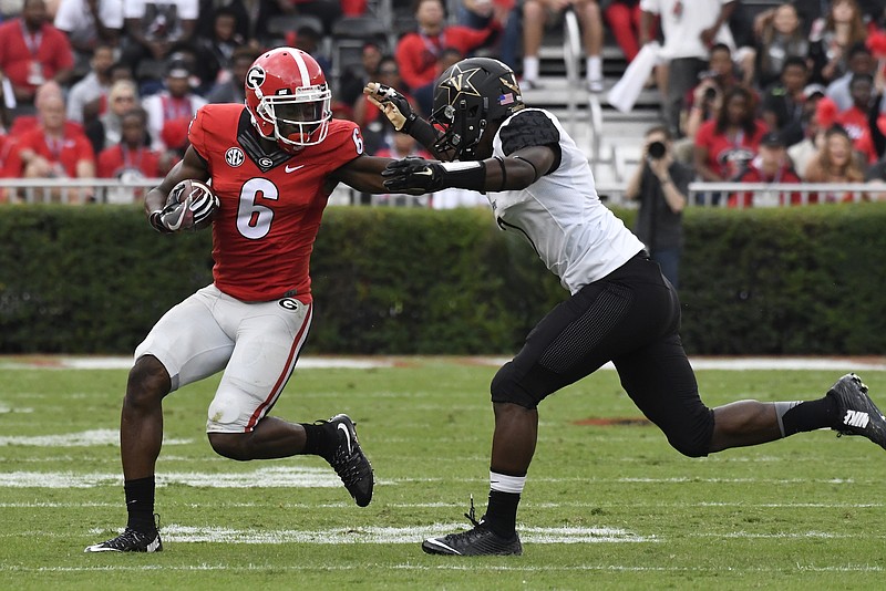
[[[243,301],[311,302],[309,263],[333,170],[363,153],[356,123],[332,120],[319,145],[292,156],[266,153],[244,105],[197,111],[190,145],[206,160],[219,209],[213,221],[213,278]]]

